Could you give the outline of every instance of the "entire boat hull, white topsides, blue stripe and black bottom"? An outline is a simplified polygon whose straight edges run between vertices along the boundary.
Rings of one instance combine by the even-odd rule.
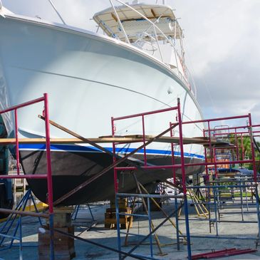
[[[0,16],[0,108],[49,96],[51,120],[84,137],[110,135],[111,116],[130,115],[170,108],[180,98],[182,120],[200,120],[202,114],[194,95],[181,78],[165,64],[135,47],[88,31],[33,21],[14,16]],[[19,137],[44,137],[43,121],[38,114],[43,104],[18,111]],[[145,117],[145,133],[157,135],[175,122],[176,111]],[[14,136],[12,114],[3,116],[9,136]],[[202,136],[203,124],[184,125],[184,137]],[[117,122],[115,135],[142,133],[142,119]],[[175,136],[178,131],[175,132]],[[51,128],[51,137],[70,137]],[[139,144],[128,145],[123,152]],[[75,146],[76,147],[76,146]],[[77,147],[83,147],[78,145]],[[125,149],[123,145],[119,149]],[[25,174],[46,173],[44,149],[21,145],[21,163]],[[103,152],[77,152],[68,147],[51,150],[54,199],[76,187],[112,160]],[[68,149],[67,149],[68,148]],[[111,146],[108,147],[111,150]],[[80,148],[81,149],[81,148]],[[152,165],[170,164],[170,144],[152,143],[147,147]],[[179,152],[176,148],[175,152]],[[185,160],[203,160],[201,145],[185,145]],[[41,155],[43,154],[43,155]],[[194,157],[190,157],[192,154]],[[42,157],[41,157],[42,156]],[[167,159],[167,163],[163,160]],[[163,162],[162,162],[163,161]],[[196,168],[196,167],[195,167]],[[88,174],[85,171],[89,171]],[[187,174],[202,172],[187,170]],[[147,186],[172,177],[172,171],[137,172]],[[132,177],[119,175],[121,189],[135,187]],[[124,177],[123,177],[124,176]],[[43,180],[28,180],[36,196],[46,200]],[[95,192],[93,192],[95,191]],[[112,171],[69,198],[65,204],[81,204],[113,196]],[[100,194],[98,194],[100,193]]]

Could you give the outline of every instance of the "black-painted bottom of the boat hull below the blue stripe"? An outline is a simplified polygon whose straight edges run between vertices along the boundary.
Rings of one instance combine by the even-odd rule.
[[[46,152],[41,150],[21,150],[21,164],[25,174],[37,175],[46,173]],[[171,157],[150,155],[147,157],[152,165],[170,165]],[[180,163],[180,157],[176,158],[176,164]],[[185,162],[202,162],[197,158],[185,157]],[[103,152],[56,152],[51,151],[51,167],[53,174],[53,200],[85,182],[90,177],[113,163],[112,157]],[[126,166],[126,164],[120,165]],[[203,167],[187,167],[186,175],[203,172]],[[157,182],[163,182],[172,177],[172,170],[137,170],[135,171],[139,182],[144,184],[150,192],[155,190]],[[180,169],[177,175],[180,175]],[[113,170],[106,172],[94,182],[88,184],[76,194],[63,201],[62,205],[85,204],[111,199],[114,194]],[[136,184],[131,172],[119,172],[119,192],[135,192]],[[46,202],[46,180],[27,180],[33,193],[42,202]]]

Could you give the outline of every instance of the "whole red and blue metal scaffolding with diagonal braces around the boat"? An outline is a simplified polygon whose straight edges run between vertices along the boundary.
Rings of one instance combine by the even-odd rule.
[[[174,184],[177,187],[177,176],[176,176],[176,169],[179,168],[181,169],[182,172],[182,192],[183,192],[183,204],[180,204],[180,207],[184,207],[184,216],[185,216],[185,227],[186,227],[186,234],[179,234],[179,222],[180,219],[178,219],[178,217],[176,217],[177,214],[175,214],[175,219],[176,219],[176,225],[177,225],[177,249],[180,249],[180,237],[184,237],[187,240],[187,254],[188,254],[188,259],[192,259],[192,249],[191,249],[191,241],[190,239],[192,237],[204,237],[204,238],[214,238],[217,237],[219,238],[227,238],[227,236],[220,236],[218,233],[216,236],[194,236],[191,235],[189,232],[189,212],[188,212],[188,201],[187,201],[187,190],[188,189],[201,189],[201,188],[205,188],[208,189],[208,194],[209,194],[209,200],[208,202],[205,202],[205,204],[209,205],[209,209],[210,209],[210,204],[214,204],[214,214],[215,214],[215,221],[214,223],[217,226],[217,223],[220,222],[220,219],[217,219],[217,212],[218,212],[218,204],[217,204],[217,192],[214,192],[214,201],[213,203],[210,201],[210,189],[219,189],[221,188],[223,185],[219,185],[219,183],[212,182],[209,183],[207,182],[206,185],[204,186],[187,186],[186,182],[185,182],[185,167],[192,167],[192,166],[204,166],[206,168],[206,175],[209,175],[209,167],[210,165],[214,165],[214,169],[217,169],[217,165],[223,165],[224,164],[229,164],[229,165],[233,165],[236,163],[251,163],[253,165],[253,178],[251,180],[251,184],[244,184],[244,180],[241,180],[241,182],[239,183],[239,185],[233,185],[235,187],[239,187],[241,189],[243,189],[244,187],[254,187],[254,196],[256,197],[256,213],[257,213],[257,223],[258,223],[258,231],[260,231],[260,219],[259,219],[259,192],[258,192],[258,177],[257,177],[257,172],[256,172],[256,161],[255,161],[255,153],[254,153],[254,134],[258,133],[259,131],[253,131],[254,127],[258,127],[259,125],[252,125],[251,124],[251,114],[248,115],[240,115],[240,116],[234,116],[234,117],[227,117],[227,118],[212,118],[212,119],[207,119],[207,120],[194,120],[194,121],[187,121],[187,122],[183,122],[182,121],[182,117],[181,117],[181,108],[180,108],[180,99],[177,100],[177,106],[176,107],[172,107],[172,108],[167,108],[167,109],[163,109],[163,110],[154,110],[154,111],[150,111],[147,113],[140,113],[140,114],[135,114],[135,115],[128,115],[128,116],[124,116],[124,117],[120,117],[120,118],[111,118],[111,125],[112,125],[112,137],[115,138],[115,121],[116,120],[124,120],[126,118],[133,118],[133,117],[141,117],[142,118],[142,145],[140,147],[137,147],[137,149],[133,150],[132,152],[130,152],[128,155],[125,155],[125,157],[118,157],[118,155],[116,155],[115,152],[115,145],[117,144],[123,144],[123,141],[117,142],[116,138],[113,139],[112,138],[112,143],[113,143],[113,164],[110,165],[109,167],[105,168],[104,170],[102,170],[101,172],[98,173],[97,176],[95,176],[95,179],[91,179],[88,180],[87,182],[80,184],[79,187],[76,187],[75,189],[73,189],[71,192],[68,192],[68,194],[64,195],[63,197],[57,199],[56,202],[53,202],[53,191],[52,191],[52,179],[51,179],[51,150],[50,150],[50,129],[49,129],[49,124],[51,125],[55,125],[55,123],[51,122],[49,120],[49,115],[48,115],[48,95],[45,93],[43,95],[43,98],[38,98],[36,100],[31,100],[28,103],[23,103],[21,105],[16,105],[14,107],[8,108],[6,110],[2,110],[0,111],[1,113],[8,113],[11,112],[12,110],[14,110],[14,116],[15,116],[15,132],[16,132],[16,139],[15,141],[9,141],[10,143],[14,143],[16,145],[16,158],[17,160],[17,164],[19,165],[19,138],[18,138],[18,120],[17,120],[17,110],[19,108],[24,108],[28,105],[32,105],[33,103],[38,103],[38,102],[44,102],[44,115],[43,117],[41,117],[43,120],[45,120],[45,128],[46,128],[46,154],[47,154],[47,174],[46,175],[21,175],[19,172],[19,167],[17,167],[17,175],[1,175],[1,178],[46,178],[47,182],[48,182],[48,211],[49,214],[39,214],[39,213],[31,213],[31,212],[16,212],[15,210],[8,210],[8,209],[0,209],[1,212],[8,212],[8,213],[13,213],[13,214],[19,214],[19,215],[30,215],[33,217],[45,217],[45,218],[49,218],[50,220],[50,259],[53,260],[54,259],[54,244],[53,244],[53,232],[58,232],[58,230],[53,228],[53,204],[58,204],[58,202],[63,201],[63,199],[66,199],[67,197],[70,197],[72,194],[74,194],[75,192],[78,192],[78,190],[82,189],[83,187],[85,187],[86,185],[88,185],[90,182],[92,182],[93,180],[95,180],[96,178],[100,177],[101,175],[105,174],[105,172],[108,172],[108,170],[113,169],[114,170],[114,189],[115,189],[115,198],[116,198],[116,217],[118,219],[117,222],[117,229],[118,229],[118,249],[112,249],[109,247],[105,247],[103,245],[97,244],[95,243],[97,246],[101,246],[101,247],[105,247],[106,249],[109,249],[111,251],[117,251],[118,255],[119,255],[119,259],[124,259],[125,256],[132,256],[133,258],[136,259],[154,259],[153,258],[153,253],[152,253],[152,246],[151,246],[151,256],[145,256],[145,258],[143,258],[144,256],[140,256],[137,254],[132,254],[132,251],[130,250],[129,252],[124,252],[121,250],[120,248],[120,227],[119,227],[119,218],[120,218],[120,212],[118,209],[118,203],[117,203],[117,199],[118,197],[124,197],[124,196],[133,196],[135,195],[136,197],[147,197],[148,200],[152,199],[152,197],[156,197],[155,195],[150,195],[150,194],[120,194],[118,192],[118,176],[117,176],[117,171],[118,170],[158,170],[158,169],[172,169],[172,176],[173,176],[173,180],[174,180]],[[147,141],[147,136],[145,135],[145,116],[146,115],[152,115],[155,113],[164,113],[167,111],[175,111],[177,113],[177,118],[176,118],[176,122],[175,123],[171,123],[170,122],[170,128],[168,128],[167,130],[161,132],[159,135],[155,136],[155,137],[150,137],[150,139]],[[216,160],[216,150],[217,147],[214,147],[214,145],[216,145],[216,143],[213,142],[214,140],[214,134],[212,134],[213,131],[215,131],[216,129],[211,129],[210,128],[210,123],[214,122],[214,121],[219,121],[219,120],[234,120],[234,119],[241,119],[241,118],[246,118],[249,120],[248,125],[246,125],[245,127],[238,127],[238,128],[233,128],[235,129],[235,134],[239,135],[239,137],[243,138],[243,135],[246,134],[250,137],[250,142],[251,142],[251,154],[252,154],[252,158],[251,160],[245,160],[245,158],[242,158],[243,160],[238,160],[239,156],[236,157],[236,160],[232,160],[232,161],[225,161],[225,162],[218,162]],[[204,130],[204,141],[201,143],[202,145],[204,145],[204,152],[205,152],[205,162],[195,162],[195,163],[185,163],[184,162],[184,138],[182,135],[182,126],[183,125],[187,125],[187,124],[194,124],[194,123],[207,123],[207,130]],[[57,124],[55,125],[57,127]],[[169,142],[171,144],[171,150],[172,150],[172,165],[148,165],[147,164],[147,156],[146,156],[146,147],[147,145],[149,145],[150,143],[156,141],[158,138],[162,137],[163,135],[165,135],[167,132],[170,132],[170,136],[173,136],[173,132],[172,129],[177,127],[179,128],[179,146],[180,146],[180,164],[175,164],[175,155],[174,155],[174,145],[176,145],[176,140],[171,140],[169,139],[166,142]],[[59,128],[62,129],[61,125],[58,126]],[[239,132],[238,129],[239,128],[247,128],[248,132],[244,133],[244,132]],[[228,128],[228,130],[230,130],[231,128]],[[65,130],[66,132],[69,132],[66,129],[62,129]],[[219,129],[217,129],[219,130]],[[207,137],[207,132],[209,133],[208,137]],[[73,132],[69,132],[72,133]],[[76,135],[75,133],[73,134],[74,136],[76,136],[77,138],[79,138],[80,140],[82,140],[85,143],[90,143],[92,144],[93,141],[90,141],[84,137],[80,137],[79,135]],[[194,138],[194,143],[195,142]],[[130,142],[130,141],[129,141]],[[139,140],[133,140],[132,142],[140,142],[140,138]],[[186,142],[187,143],[187,142]],[[191,144],[192,142],[188,142],[189,144]],[[96,144],[95,144],[96,145]],[[230,149],[234,149],[234,146],[229,146]],[[140,166],[137,165],[135,163],[133,163],[132,165],[134,166],[128,166],[128,167],[120,167],[119,164],[123,161],[126,161],[130,155],[135,154],[135,152],[139,151],[140,149],[143,149],[144,151],[144,162],[145,165]],[[211,162],[209,162],[209,158],[207,157],[207,149],[209,149],[209,153],[210,153],[210,157],[214,158],[214,160],[212,160]],[[237,147],[236,147],[237,150]],[[105,151],[107,152],[107,151]],[[216,171],[217,173],[217,171]],[[248,180],[246,180],[246,182],[248,182]],[[232,188],[232,185],[224,185],[224,187],[229,187]],[[160,195],[160,197],[165,197],[165,195]],[[177,212],[176,209],[179,209],[180,207],[178,207],[178,202],[177,199],[180,198],[180,196],[177,196],[177,194],[169,196],[175,199],[175,213]],[[150,207],[148,205],[148,207]],[[150,210],[148,210],[148,219],[150,219]],[[158,228],[161,227],[161,225],[163,223],[165,223],[168,219],[170,219],[170,217],[172,217],[174,214],[171,214],[170,216],[166,217],[166,219],[155,228],[155,230],[157,230]],[[150,221],[150,220],[149,220]],[[210,211],[209,211],[209,226],[210,226],[210,222],[212,222],[212,219],[210,218]],[[20,226],[21,227],[21,226]],[[152,236],[152,234],[155,232],[155,230],[151,230],[151,226],[150,226],[150,232],[147,235],[147,238],[150,238]],[[60,232],[61,233],[61,232]],[[62,233],[65,236],[71,236],[71,234],[67,234],[66,232]],[[80,239],[77,236],[73,236],[73,238],[76,239]],[[228,238],[230,238],[230,236],[228,236]],[[234,239],[256,239],[258,241],[258,237],[249,237],[249,238],[239,238],[239,237],[232,237]],[[84,240],[86,241],[86,239],[80,239],[80,240]],[[21,240],[20,240],[21,241]],[[86,241],[86,242],[90,242],[91,241]],[[93,243],[94,244],[94,243]],[[122,255],[124,255],[122,257]]]

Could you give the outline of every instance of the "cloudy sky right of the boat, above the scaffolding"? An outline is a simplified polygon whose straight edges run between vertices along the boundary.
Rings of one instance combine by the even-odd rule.
[[[175,0],[175,6],[204,115],[252,113],[257,123],[260,1]]]

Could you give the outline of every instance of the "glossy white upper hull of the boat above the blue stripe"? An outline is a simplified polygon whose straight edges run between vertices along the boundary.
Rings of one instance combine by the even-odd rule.
[[[137,48],[65,26],[0,16],[1,108],[49,95],[51,120],[85,137],[111,134],[111,116],[130,115],[182,104],[183,120],[202,115],[187,86],[167,66]],[[43,136],[37,118],[43,105],[19,111],[19,135]],[[147,117],[147,135],[175,122],[176,113]],[[13,120],[4,118],[9,134]],[[202,136],[202,124],[184,125],[184,136]],[[140,134],[136,120],[118,123],[116,135]],[[178,133],[176,132],[176,135]],[[51,128],[52,137],[68,137]],[[132,145],[131,147],[135,147]],[[152,150],[170,150],[153,144]],[[29,148],[28,148],[29,149]],[[202,146],[185,152],[202,156]]]

